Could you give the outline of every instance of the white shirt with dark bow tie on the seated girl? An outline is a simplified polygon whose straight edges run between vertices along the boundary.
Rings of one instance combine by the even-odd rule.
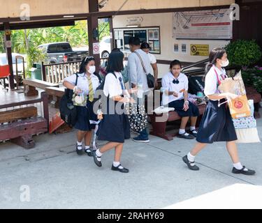
[[[182,100],[184,99],[184,92],[181,92],[183,89],[185,91],[189,90],[189,80],[186,75],[184,75],[182,72],[180,75],[177,77],[179,80],[179,84],[173,84],[173,80],[175,77],[171,72],[168,72],[166,75],[163,76],[162,78],[162,88],[165,91],[175,91],[178,93],[178,97],[176,98],[174,95],[166,95],[166,93],[163,93],[163,100],[162,104],[163,105],[168,105],[168,103],[173,102],[175,100]]]

